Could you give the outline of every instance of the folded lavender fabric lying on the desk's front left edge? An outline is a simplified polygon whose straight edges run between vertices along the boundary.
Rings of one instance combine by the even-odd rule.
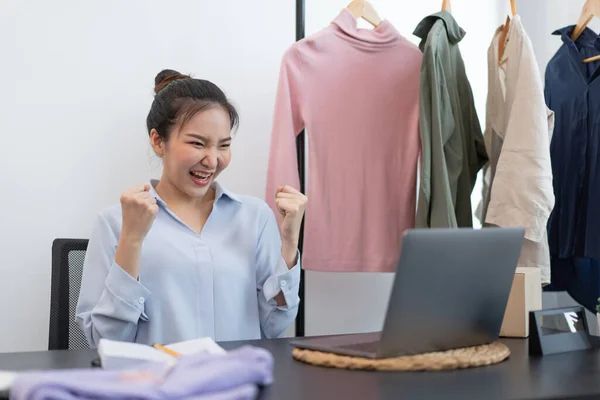
[[[10,399],[250,400],[272,381],[271,354],[244,346],[223,355],[183,356],[174,367],[149,363],[133,370],[29,372],[15,380]]]

